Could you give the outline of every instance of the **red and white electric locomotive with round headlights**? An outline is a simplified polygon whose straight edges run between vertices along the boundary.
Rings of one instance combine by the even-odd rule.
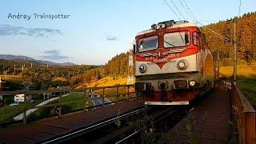
[[[136,35],[136,94],[146,105],[189,105],[214,86],[214,62],[192,22],[159,22]]]

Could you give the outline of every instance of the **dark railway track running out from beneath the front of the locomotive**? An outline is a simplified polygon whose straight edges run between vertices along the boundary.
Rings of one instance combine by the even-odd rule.
[[[182,118],[185,118],[186,114],[189,114],[190,110],[203,102],[203,100],[204,98],[201,98],[190,106],[141,107],[43,143],[142,142],[145,141],[145,133],[148,132],[154,133],[154,138],[158,140],[162,133],[170,130]],[[148,134],[147,137],[149,138],[150,135]]]

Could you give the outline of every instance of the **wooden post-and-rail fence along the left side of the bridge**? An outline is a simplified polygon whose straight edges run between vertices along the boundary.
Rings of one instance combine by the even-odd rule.
[[[54,104],[47,104],[44,106],[28,106],[29,102],[26,101],[26,95],[28,94],[44,94],[44,93],[80,93],[83,94],[83,99],[73,101],[73,98],[70,102],[61,102],[62,95],[58,96],[55,101],[58,101]],[[27,110],[31,109],[50,109],[49,116],[61,116],[62,115],[62,107],[65,105],[69,105],[75,102],[82,102],[83,108],[82,110],[89,110],[98,106],[110,105],[116,102],[128,101],[130,99],[137,98],[134,92],[133,85],[117,85],[117,86],[104,86],[104,87],[88,87],[85,89],[69,89],[69,90],[19,90],[19,91],[0,91],[0,95],[3,96],[14,96],[15,94],[25,94],[24,102],[22,103],[22,122],[26,124],[27,122]],[[89,102],[94,99],[94,97],[98,98],[100,104],[89,106]],[[106,98],[110,99],[110,101],[106,101]],[[57,100],[58,99],[58,100]],[[71,111],[74,112],[74,111]],[[8,118],[7,118],[8,119]],[[11,118],[13,120],[13,118]],[[10,120],[10,118],[9,118]],[[4,123],[4,126],[14,123],[12,121]],[[0,123],[2,126],[2,123]]]

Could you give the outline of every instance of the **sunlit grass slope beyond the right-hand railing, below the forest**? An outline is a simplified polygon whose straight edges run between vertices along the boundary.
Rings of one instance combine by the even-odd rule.
[[[220,73],[227,78],[233,76],[233,66],[220,67]],[[238,87],[256,110],[256,65],[238,66]]]

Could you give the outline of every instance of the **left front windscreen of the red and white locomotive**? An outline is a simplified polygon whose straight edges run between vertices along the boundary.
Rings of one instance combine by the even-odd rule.
[[[138,40],[138,51],[155,50],[158,48],[158,36],[150,36]]]

